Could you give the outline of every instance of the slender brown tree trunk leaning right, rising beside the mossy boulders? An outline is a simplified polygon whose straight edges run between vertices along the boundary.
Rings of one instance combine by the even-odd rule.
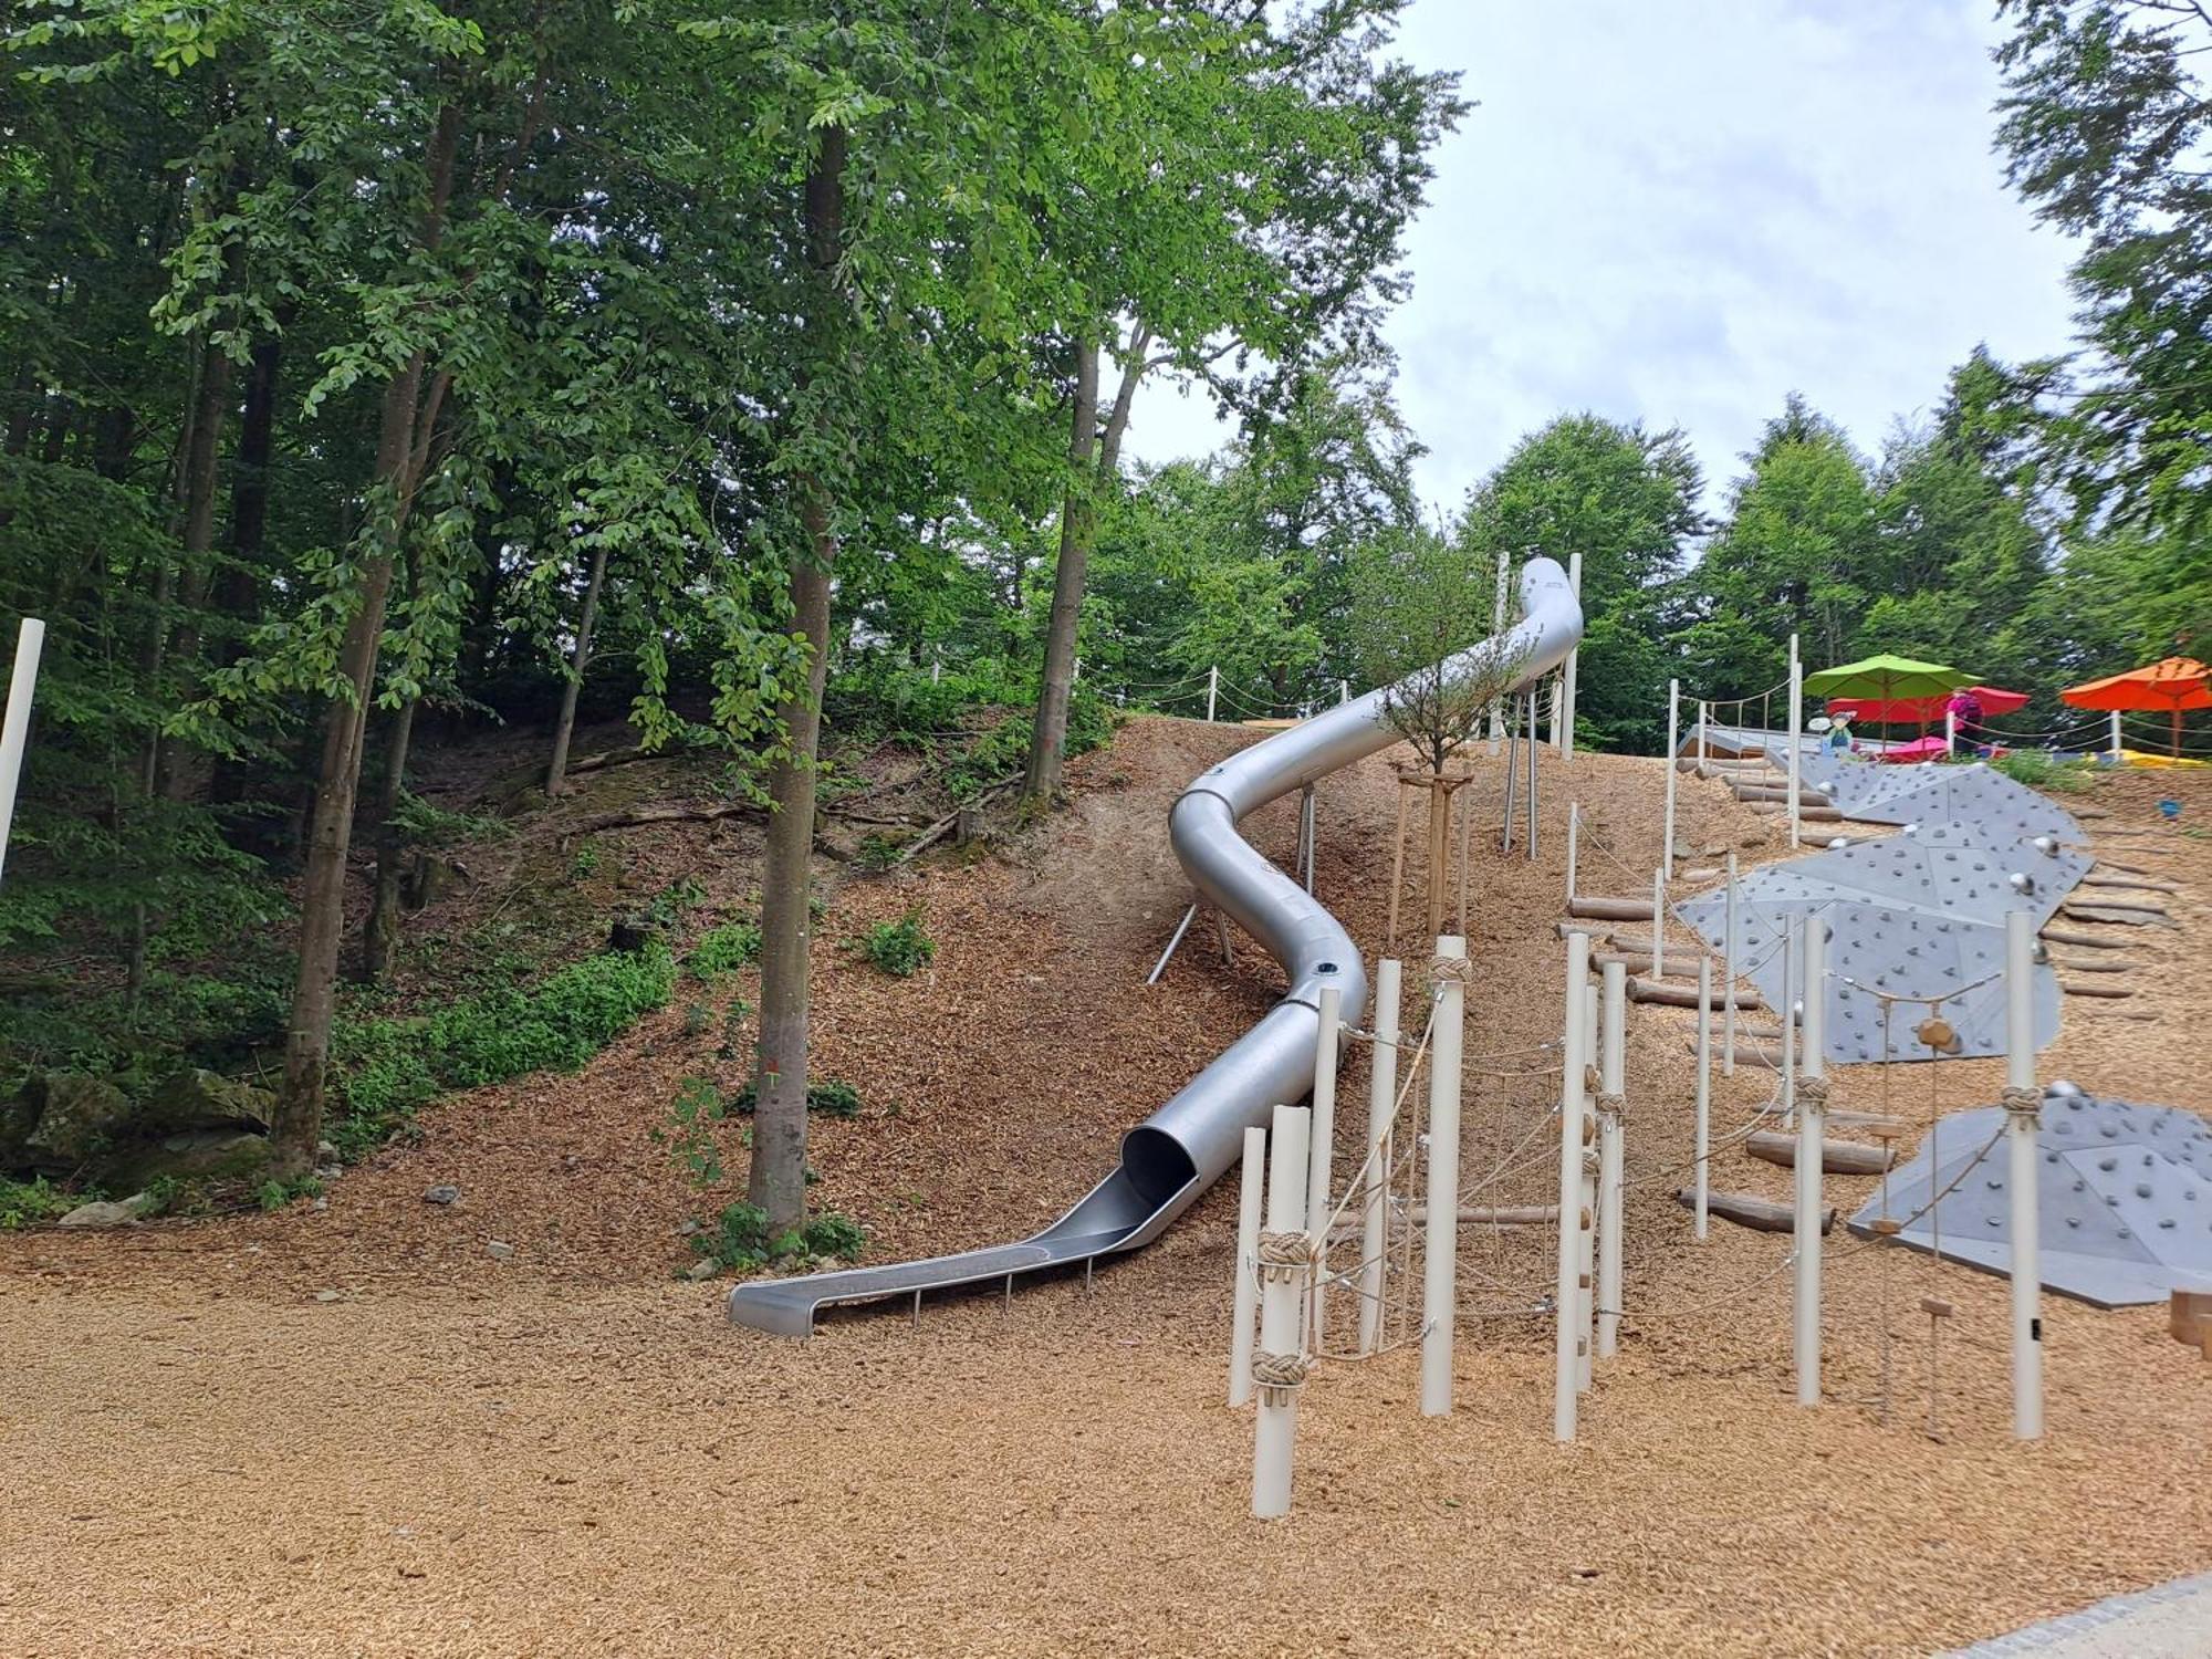
[[[436,248],[445,226],[458,144],[460,108],[447,104],[438,111],[427,157],[431,195],[418,237],[425,248]],[[376,690],[376,650],[385,633],[385,602],[392,597],[392,564],[414,507],[411,467],[420,453],[416,420],[425,367],[425,356],[416,352],[385,385],[372,491],[383,498],[376,502],[383,522],[369,529],[372,549],[361,573],[361,606],[338,648],[338,672],[347,681],[347,695],[332,699],[323,719],[323,759],[307,818],[307,867],[301,883],[299,978],[285,1031],[283,1088],[270,1124],[270,1168],[279,1177],[312,1168],[314,1146],[323,1135],[323,1073],[330,1064],[330,1015],[336,1002],[338,940],[345,929],[345,856],[354,838],[361,745]]]

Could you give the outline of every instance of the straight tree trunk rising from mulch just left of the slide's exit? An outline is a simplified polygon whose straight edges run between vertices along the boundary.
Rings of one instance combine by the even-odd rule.
[[[818,288],[807,332],[821,332],[816,363],[834,363],[834,272],[845,219],[845,128],[823,128],[807,170],[807,263]],[[836,538],[821,482],[803,478],[805,546],[792,557],[792,611],[807,646],[807,672],[776,710],[785,757],[768,779],[774,816],[761,869],[761,1046],[754,1071],[752,1168],[745,1199],[768,1214],[770,1232],[805,1221],[807,1212],[807,962],[812,951],[814,757],[821,745],[821,697],[830,670],[830,568]]]

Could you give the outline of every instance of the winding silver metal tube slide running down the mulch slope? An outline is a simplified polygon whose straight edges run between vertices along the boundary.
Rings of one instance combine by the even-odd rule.
[[[1522,622],[1462,653],[1473,668],[1493,653],[1520,661],[1515,690],[1566,661],[1582,639],[1582,606],[1553,560],[1528,560]],[[1044,1232],[1020,1243],[883,1267],[757,1279],[730,1292],[730,1321],[779,1336],[807,1336],[814,1310],[834,1303],[920,1296],[925,1290],[1013,1281],[1042,1267],[1110,1256],[1150,1243],[1243,1152],[1248,1126],[1276,1102],[1314,1088],[1321,989],[1338,987],[1343,1018],[1367,1004],[1367,973],[1352,936],[1312,894],[1267,863],[1237,823],[1248,812],[1398,741],[1374,690],[1232,754],[1203,772],[1168,814],[1168,838],[1192,887],[1267,947],[1290,991],[1256,1026],[1121,1139],[1121,1164]]]

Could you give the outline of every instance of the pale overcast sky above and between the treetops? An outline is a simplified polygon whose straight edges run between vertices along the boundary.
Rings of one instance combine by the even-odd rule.
[[[1714,504],[1792,389],[1867,451],[1944,372],[2066,347],[2068,243],[1991,153],[1991,0],[1416,0],[1400,55],[1478,106],[1436,153],[1389,323],[1455,507],[1571,409],[1681,425]],[[1170,387],[1146,460],[1223,438]]]

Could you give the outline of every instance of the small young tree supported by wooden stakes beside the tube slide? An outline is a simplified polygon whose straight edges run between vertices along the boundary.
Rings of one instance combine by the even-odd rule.
[[[1475,650],[1491,635],[1493,582],[1489,551],[1418,524],[1378,535],[1352,562],[1352,653],[1363,679],[1387,688],[1383,717],[1427,768],[1431,938],[1444,931],[1451,796],[1467,781],[1447,768],[1526,666],[1526,650],[1504,641]]]

